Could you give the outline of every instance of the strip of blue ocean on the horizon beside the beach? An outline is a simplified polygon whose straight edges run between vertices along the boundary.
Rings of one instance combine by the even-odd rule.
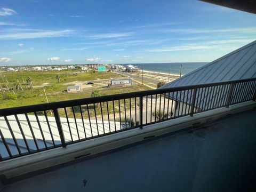
[[[133,66],[137,66],[140,69],[160,72],[160,73],[169,73],[180,75],[180,65],[182,64],[181,75],[186,75],[187,73],[206,65],[208,62],[183,62],[183,63],[138,63],[138,64],[131,64]],[[126,65],[123,65],[126,66]]]

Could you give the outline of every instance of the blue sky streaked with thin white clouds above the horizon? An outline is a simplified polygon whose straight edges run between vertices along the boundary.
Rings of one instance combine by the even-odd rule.
[[[194,0],[1,0],[0,65],[207,62],[254,41],[255,20]]]

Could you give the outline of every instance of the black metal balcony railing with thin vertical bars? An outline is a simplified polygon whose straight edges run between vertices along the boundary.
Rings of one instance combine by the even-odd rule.
[[[0,161],[256,99],[256,78],[0,109]]]

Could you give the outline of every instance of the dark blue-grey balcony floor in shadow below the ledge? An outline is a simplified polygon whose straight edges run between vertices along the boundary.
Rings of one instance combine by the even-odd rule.
[[[79,159],[3,191],[255,191],[255,138],[256,110],[245,111],[201,129]]]

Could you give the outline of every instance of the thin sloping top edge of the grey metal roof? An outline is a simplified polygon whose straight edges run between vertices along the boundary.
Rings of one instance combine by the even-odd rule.
[[[242,50],[244,50],[245,48],[247,48],[247,47],[249,47],[249,46],[252,46],[253,44],[256,44],[256,40],[253,41],[253,42],[251,42],[251,43],[249,43],[249,44],[246,44],[246,45],[244,45],[244,46],[242,46],[242,47],[239,47],[238,49],[236,49],[236,50],[234,50],[234,51],[231,51],[230,53],[228,53],[228,54],[226,54],[226,55],[223,55],[222,57],[220,57],[220,58],[218,58],[218,59],[215,59],[215,60],[213,60],[213,61],[207,63],[206,65],[204,65],[204,66],[202,66],[202,67],[199,67],[198,69],[195,69],[195,70],[191,71],[190,73],[188,73],[188,74],[186,74],[186,75],[183,75],[182,77],[177,78],[177,79],[175,79],[174,81],[172,81],[172,82],[170,82],[170,83],[165,84],[165,85],[162,86],[162,87],[164,88],[166,85],[170,85],[170,84],[172,84],[172,83],[174,83],[174,82],[180,81],[180,79],[183,79],[183,78],[185,78],[185,77],[187,77],[187,76],[189,76],[189,75],[191,75],[191,74],[194,74],[194,73],[196,73],[198,70],[201,70],[201,69],[203,69],[203,68],[205,68],[205,67],[208,67],[208,66],[212,65],[213,63],[215,63],[215,62],[217,62],[217,61],[219,61],[219,60],[225,59],[226,57],[229,57],[230,55],[233,55],[233,54],[237,53],[238,51],[242,51]]]

